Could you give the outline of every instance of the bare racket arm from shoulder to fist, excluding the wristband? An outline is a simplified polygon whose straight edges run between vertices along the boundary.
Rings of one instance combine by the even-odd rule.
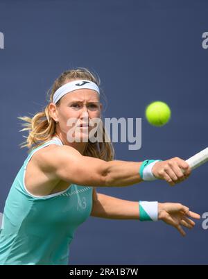
[[[143,162],[119,160],[105,162],[81,155],[71,146],[57,146],[52,150],[46,150],[37,160],[37,165],[51,180],[64,180],[69,184],[121,187],[137,184],[143,180],[139,174]],[[179,183],[190,173],[189,164],[180,158],[156,162],[153,167],[155,178],[164,179],[170,185]]]

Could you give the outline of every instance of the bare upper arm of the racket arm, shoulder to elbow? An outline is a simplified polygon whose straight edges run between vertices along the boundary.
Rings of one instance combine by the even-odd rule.
[[[58,146],[49,151],[46,161],[55,178],[83,186],[105,186],[107,162],[83,156],[71,146]]]

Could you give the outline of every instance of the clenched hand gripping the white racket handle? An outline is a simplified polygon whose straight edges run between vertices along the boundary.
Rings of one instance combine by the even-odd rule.
[[[156,178],[166,180],[171,186],[182,182],[191,174],[189,164],[177,157],[170,160],[157,162],[153,166],[152,171]]]

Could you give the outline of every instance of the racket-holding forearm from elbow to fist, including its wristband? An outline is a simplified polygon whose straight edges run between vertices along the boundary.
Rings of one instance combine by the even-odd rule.
[[[105,186],[128,186],[139,183],[141,180],[155,180],[155,178],[164,179],[170,185],[175,185],[190,174],[189,164],[177,157],[165,161],[125,162],[114,160],[107,162],[107,167],[105,167]]]

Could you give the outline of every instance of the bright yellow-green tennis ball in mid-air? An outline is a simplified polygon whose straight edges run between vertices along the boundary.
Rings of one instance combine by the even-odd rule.
[[[162,101],[150,103],[146,108],[146,119],[153,126],[163,126],[171,118],[171,109]]]

